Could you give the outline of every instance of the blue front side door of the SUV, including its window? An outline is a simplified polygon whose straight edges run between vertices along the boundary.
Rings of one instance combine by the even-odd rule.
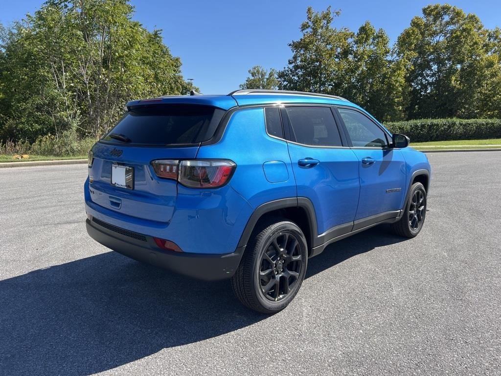
[[[355,220],[400,210],[405,191],[402,152],[388,147],[389,135],[362,111],[337,110],[359,164],[360,200]]]

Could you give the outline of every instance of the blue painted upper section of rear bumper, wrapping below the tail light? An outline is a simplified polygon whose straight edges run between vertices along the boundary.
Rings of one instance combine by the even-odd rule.
[[[151,218],[158,218],[158,213],[124,214],[124,203],[120,209],[100,206],[92,201],[91,191],[98,194],[87,178],[85,211],[93,218],[127,231],[168,239],[186,253],[221,256],[233,253],[254,210],[229,184],[216,190],[188,189],[179,184],[173,214],[169,214],[167,205],[165,222],[157,222]],[[163,213],[161,208],[156,211]]]

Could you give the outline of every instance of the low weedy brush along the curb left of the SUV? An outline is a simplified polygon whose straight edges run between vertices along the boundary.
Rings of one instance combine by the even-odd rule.
[[[0,142],[0,154],[86,155],[94,142],[96,142],[94,138],[79,138],[75,132],[67,131],[63,132],[59,137],[52,134],[41,136],[33,144],[26,140]]]

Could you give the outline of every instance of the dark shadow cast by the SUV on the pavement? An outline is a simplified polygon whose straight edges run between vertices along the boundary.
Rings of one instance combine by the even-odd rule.
[[[307,277],[398,241],[381,229],[340,241],[310,260]],[[0,369],[91,374],[266,318],[240,305],[227,281],[196,281],[108,252],[0,281]]]

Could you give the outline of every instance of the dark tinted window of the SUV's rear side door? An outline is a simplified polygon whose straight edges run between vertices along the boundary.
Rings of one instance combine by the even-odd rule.
[[[341,146],[330,107],[287,107],[292,141],[312,146]]]

